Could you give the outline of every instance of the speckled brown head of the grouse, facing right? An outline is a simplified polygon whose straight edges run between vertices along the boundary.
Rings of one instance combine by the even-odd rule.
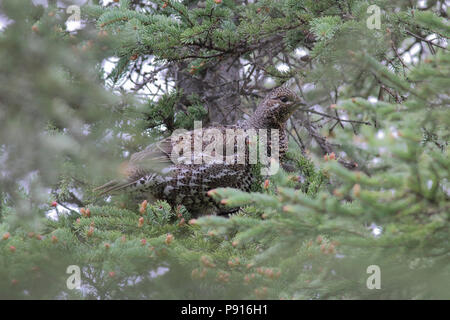
[[[259,128],[282,127],[301,105],[304,103],[294,91],[278,87],[261,101],[250,122]]]

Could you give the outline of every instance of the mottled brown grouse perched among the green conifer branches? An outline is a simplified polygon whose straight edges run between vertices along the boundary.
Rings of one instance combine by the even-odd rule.
[[[277,87],[266,95],[246,120],[229,126],[215,124],[175,136],[172,134],[171,137],[132,154],[123,166],[123,178],[112,180],[94,191],[100,192],[100,195],[127,192],[141,198],[165,200],[172,207],[183,205],[194,217],[233,212],[233,209],[226,208],[208,196],[208,191],[227,187],[247,192],[251,190],[257,180],[253,169],[258,162],[254,163],[250,159],[249,145],[252,140],[248,132],[268,132],[267,155],[273,155],[272,150],[275,152],[270,139],[270,132],[275,132],[278,135],[279,161],[283,162],[288,149],[286,122],[302,104],[302,100],[293,90],[284,86]],[[261,129],[263,131],[260,131]],[[229,130],[235,130],[236,136],[227,136]],[[244,154],[239,158],[237,152],[242,152],[242,148],[238,146],[238,136],[242,133],[246,134]],[[196,139],[200,139],[200,151],[194,150],[189,154],[192,150],[189,148],[195,145]],[[215,145],[215,149],[209,149],[210,153],[205,152],[213,142],[220,141],[222,145],[219,143],[219,147]],[[182,146],[187,149],[182,149]],[[225,150],[231,150],[231,155],[223,152],[226,149],[223,146],[231,146]],[[220,161],[225,159],[222,153],[231,156],[228,158],[229,162]]]

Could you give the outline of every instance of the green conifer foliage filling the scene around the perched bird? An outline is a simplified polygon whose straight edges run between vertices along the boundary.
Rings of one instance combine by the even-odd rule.
[[[70,5],[0,3],[0,298],[450,298],[445,1]],[[279,85],[289,168],[209,192],[238,212],[92,191]]]

